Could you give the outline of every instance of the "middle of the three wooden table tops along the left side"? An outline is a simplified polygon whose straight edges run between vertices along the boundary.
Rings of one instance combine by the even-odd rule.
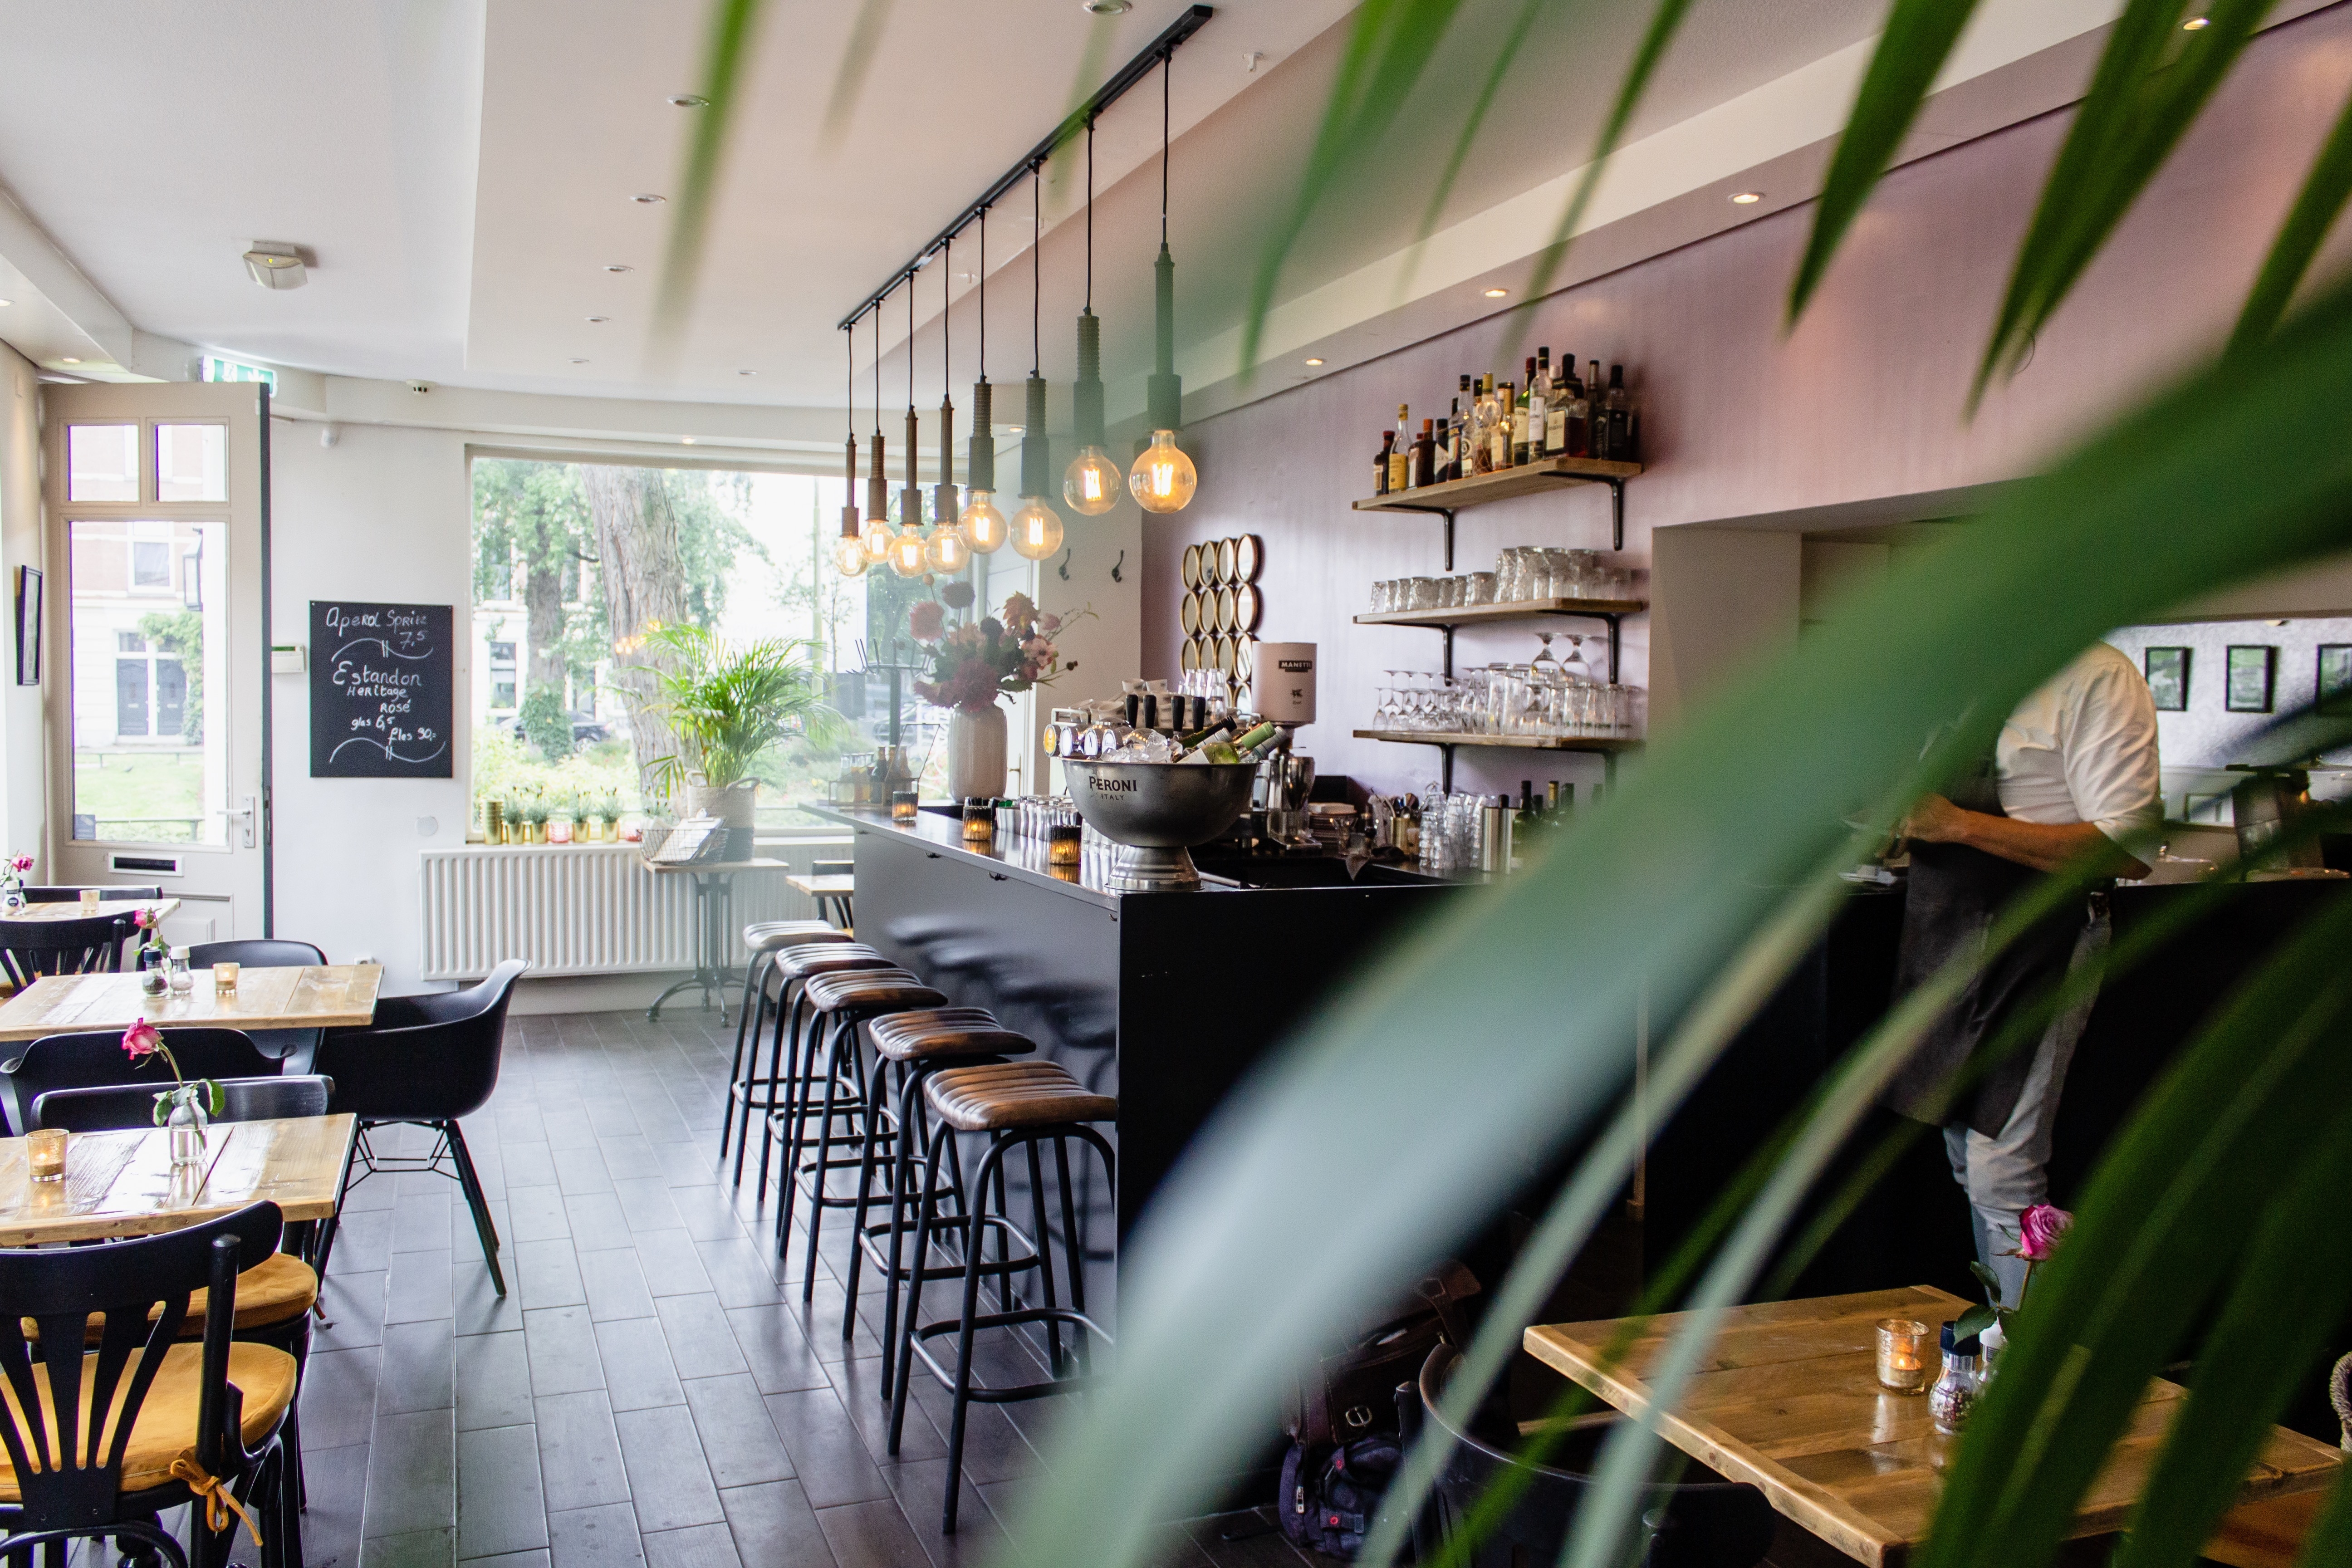
[[[0,1041],[127,1030],[139,1018],[162,1030],[343,1030],[374,1020],[379,985],[381,964],[245,969],[233,992],[214,990],[212,971],[198,969],[195,987],[179,997],[148,997],[136,973],[42,976],[0,1006]]]

